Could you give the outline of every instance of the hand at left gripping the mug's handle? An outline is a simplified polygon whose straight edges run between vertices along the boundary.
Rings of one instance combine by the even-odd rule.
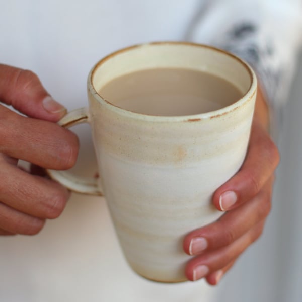
[[[66,109],[55,102],[31,71],[0,64],[0,235],[40,232],[58,217],[69,192],[57,182],[18,167],[22,159],[49,169],[68,169],[78,155],[78,138],[58,126]]]

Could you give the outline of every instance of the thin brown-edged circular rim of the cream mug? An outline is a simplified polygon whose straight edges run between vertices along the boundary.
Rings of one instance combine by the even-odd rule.
[[[213,110],[213,111],[204,112],[204,113],[196,113],[196,114],[191,114],[191,115],[177,115],[177,116],[149,115],[149,114],[137,113],[137,112],[130,111],[127,109],[123,109],[123,108],[107,101],[96,91],[96,89],[94,88],[94,85],[93,85],[93,77],[94,77],[95,71],[99,68],[100,65],[102,65],[104,62],[110,60],[112,57],[119,55],[121,53],[127,52],[127,51],[135,49],[135,48],[152,46],[152,45],[188,45],[188,46],[192,46],[192,47],[208,48],[208,49],[212,49],[216,52],[222,52],[223,54],[228,55],[228,56],[232,57],[233,59],[236,59],[237,61],[239,61],[240,64],[248,71],[248,73],[250,75],[250,79],[251,79],[250,87],[248,88],[247,92],[244,93],[243,96],[239,100],[237,100],[236,102],[234,102],[228,106],[222,107],[218,110]],[[171,121],[177,121],[177,122],[189,121],[189,122],[191,122],[191,121],[200,121],[200,120],[204,120],[204,119],[217,118],[217,117],[223,116],[225,114],[228,114],[228,113],[240,108],[245,103],[249,102],[254,97],[254,95],[257,91],[257,78],[255,75],[255,72],[246,61],[244,61],[240,57],[238,57],[228,51],[225,51],[223,49],[220,49],[220,48],[217,48],[214,46],[210,46],[210,45],[206,45],[206,44],[199,44],[199,43],[194,43],[194,42],[182,42],[182,41],[156,41],[156,42],[135,44],[135,45],[128,46],[128,47],[119,49],[117,51],[114,51],[114,52],[108,54],[107,56],[105,56],[104,58],[102,58],[101,60],[99,60],[92,67],[92,69],[88,75],[87,84],[88,84],[88,90],[92,93],[95,100],[98,101],[99,103],[101,103],[102,105],[104,105],[105,107],[107,107],[108,109],[111,109],[112,111],[115,111],[118,114],[121,114],[123,116],[128,116],[130,118],[147,120],[147,121],[156,121],[156,122],[159,122],[159,121],[162,121],[162,122],[164,122],[164,121],[170,121],[170,122]]]

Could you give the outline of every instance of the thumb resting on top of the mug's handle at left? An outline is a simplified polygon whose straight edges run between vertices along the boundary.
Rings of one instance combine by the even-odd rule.
[[[0,101],[38,119],[58,121],[66,109],[42,86],[35,73],[0,64]]]

